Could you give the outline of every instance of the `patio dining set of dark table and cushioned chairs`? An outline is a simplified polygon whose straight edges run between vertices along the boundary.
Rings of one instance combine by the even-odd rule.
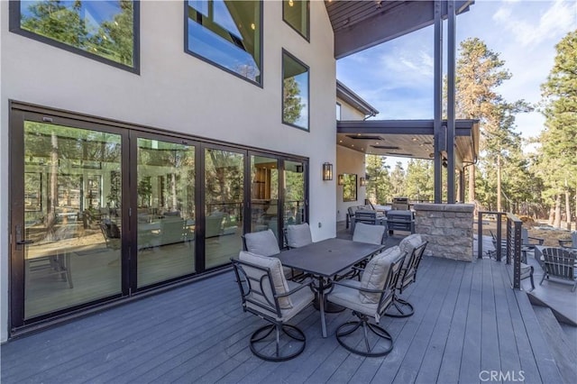
[[[384,233],[385,226],[358,223],[353,240],[313,242],[308,224],[289,225],[283,251],[270,230],[246,233],[243,251],[232,259],[243,311],[269,323],[252,334],[252,353],[287,361],[303,352],[307,337],[289,321],[311,304],[319,311],[323,337],[325,313],[348,308],[355,319],[338,326],[338,343],[362,356],[389,353],[393,339],[380,318],[413,314],[400,295],[417,278],[426,242],[411,234],[385,249]]]

